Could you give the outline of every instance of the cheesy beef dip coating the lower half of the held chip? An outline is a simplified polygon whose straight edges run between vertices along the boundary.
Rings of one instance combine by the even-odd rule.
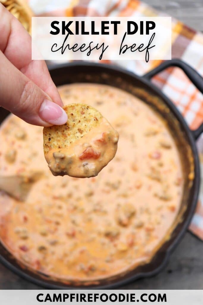
[[[118,133],[103,117],[99,126],[62,149],[50,149],[45,155],[54,176],[95,177],[117,151]]]

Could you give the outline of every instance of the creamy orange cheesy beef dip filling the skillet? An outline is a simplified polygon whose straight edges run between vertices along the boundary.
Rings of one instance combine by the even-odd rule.
[[[0,174],[43,170],[26,202],[0,192],[0,238],[23,264],[61,279],[94,280],[149,261],[180,208],[183,175],[165,122],[136,97],[105,85],[59,87],[64,104],[98,109],[119,133],[116,156],[89,179],[54,177],[42,128],[10,115]]]

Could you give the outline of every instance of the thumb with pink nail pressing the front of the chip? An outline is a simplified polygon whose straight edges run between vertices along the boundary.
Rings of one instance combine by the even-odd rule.
[[[39,126],[62,125],[65,111],[20,72],[0,51],[0,106],[27,123]],[[43,77],[43,75],[41,76]]]

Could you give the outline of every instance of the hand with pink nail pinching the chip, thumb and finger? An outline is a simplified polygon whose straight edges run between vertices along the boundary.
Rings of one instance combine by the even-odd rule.
[[[31,37],[0,4],[0,106],[30,124],[62,125],[67,114],[44,60],[31,59]]]

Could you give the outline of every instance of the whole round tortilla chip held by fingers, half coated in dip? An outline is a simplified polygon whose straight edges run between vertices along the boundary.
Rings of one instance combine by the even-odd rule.
[[[70,104],[64,125],[44,127],[44,156],[54,176],[89,178],[112,160],[119,135],[101,113],[86,104]]]

